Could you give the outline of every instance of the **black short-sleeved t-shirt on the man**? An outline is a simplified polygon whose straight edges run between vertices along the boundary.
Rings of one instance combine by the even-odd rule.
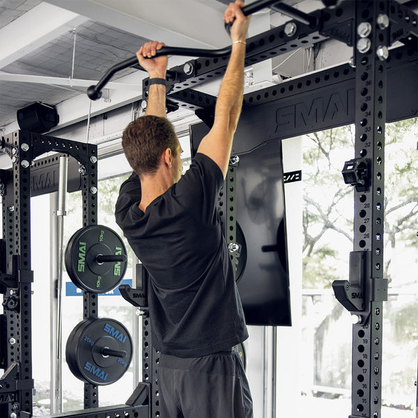
[[[116,222],[150,273],[153,346],[178,357],[227,350],[248,337],[216,199],[222,171],[196,154],[178,183],[142,212],[132,174],[116,202]]]

